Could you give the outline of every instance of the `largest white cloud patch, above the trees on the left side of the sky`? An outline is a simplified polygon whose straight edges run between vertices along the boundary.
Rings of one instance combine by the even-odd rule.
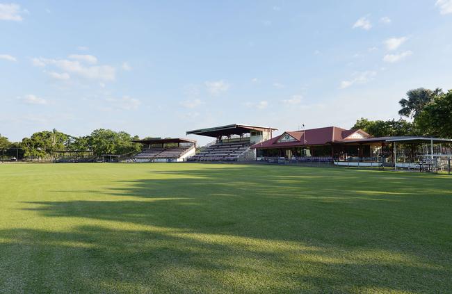
[[[72,56],[74,57],[74,56]],[[95,56],[92,56],[95,57]],[[81,60],[93,62],[94,59],[90,57],[77,57]],[[97,60],[97,58],[96,58]],[[45,67],[54,66],[58,67],[64,72],[76,74],[85,79],[100,80],[100,81],[114,81],[115,80],[115,67],[111,65],[84,65],[79,60],[68,59],[49,59],[49,58],[33,58],[33,65]]]

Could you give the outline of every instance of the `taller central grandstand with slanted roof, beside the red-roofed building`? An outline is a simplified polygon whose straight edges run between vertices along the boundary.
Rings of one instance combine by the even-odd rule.
[[[245,124],[228,124],[208,129],[187,131],[187,135],[199,135],[216,138],[202,148],[188,161],[252,161],[255,160],[255,149],[250,146],[272,138],[277,129],[265,126],[249,126]]]

